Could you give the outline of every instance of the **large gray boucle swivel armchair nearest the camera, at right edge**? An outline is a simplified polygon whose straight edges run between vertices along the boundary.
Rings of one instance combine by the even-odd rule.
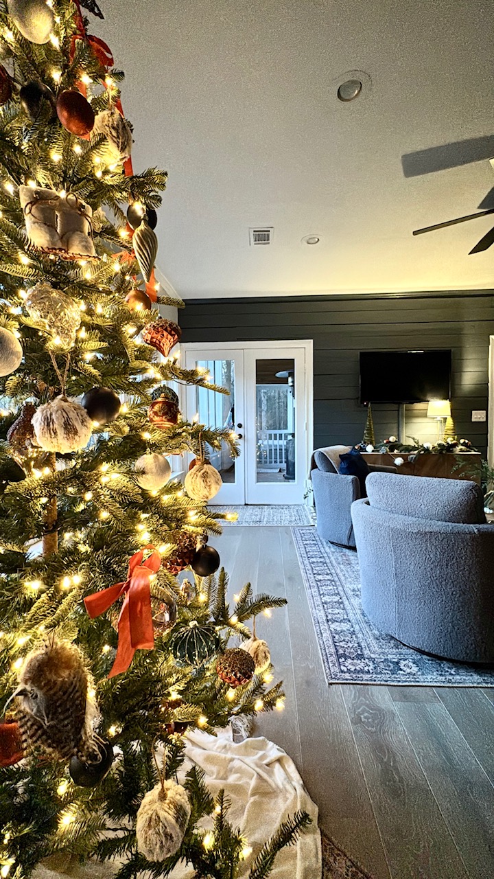
[[[476,483],[372,474],[352,504],[362,607],[382,632],[494,663],[494,525]]]

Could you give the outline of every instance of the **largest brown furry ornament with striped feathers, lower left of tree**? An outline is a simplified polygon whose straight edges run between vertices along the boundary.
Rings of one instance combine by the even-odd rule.
[[[51,638],[25,657],[14,693],[25,751],[66,760],[97,751],[93,724],[98,709],[88,699],[92,680],[81,651]]]

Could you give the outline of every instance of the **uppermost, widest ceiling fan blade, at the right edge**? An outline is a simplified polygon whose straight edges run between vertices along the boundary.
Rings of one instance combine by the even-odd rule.
[[[444,143],[440,147],[418,149],[402,156],[404,177],[421,177],[434,171],[459,168],[471,162],[482,162],[494,156],[494,134],[470,137],[466,141]]]

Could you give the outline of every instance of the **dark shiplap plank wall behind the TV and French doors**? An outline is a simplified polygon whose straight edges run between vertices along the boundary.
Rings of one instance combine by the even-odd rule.
[[[494,291],[447,294],[290,296],[189,300],[179,312],[183,342],[314,340],[314,443],[356,443],[366,410],[359,403],[359,352],[451,348],[452,410],[458,435],[483,454],[487,423],[471,410],[488,404]],[[397,430],[397,407],[373,405],[376,439]],[[434,431],[432,429],[432,435]]]

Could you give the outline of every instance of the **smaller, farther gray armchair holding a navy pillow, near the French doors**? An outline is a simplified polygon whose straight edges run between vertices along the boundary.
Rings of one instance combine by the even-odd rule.
[[[331,446],[316,449],[312,455],[310,476],[316,505],[316,529],[323,541],[354,547],[350,508],[360,498],[357,476],[338,473],[339,455],[349,452],[351,446]],[[396,467],[369,466],[369,471],[382,470],[396,473]],[[368,478],[368,477],[367,477]]]

